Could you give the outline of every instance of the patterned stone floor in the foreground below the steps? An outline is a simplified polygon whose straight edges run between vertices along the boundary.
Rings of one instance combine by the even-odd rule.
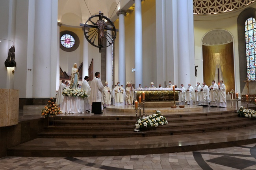
[[[1,170],[251,170],[256,144],[152,155],[107,157],[3,157]]]

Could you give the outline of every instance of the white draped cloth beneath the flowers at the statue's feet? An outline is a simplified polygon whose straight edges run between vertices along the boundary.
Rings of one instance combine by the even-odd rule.
[[[84,113],[84,101],[82,97],[64,96],[60,110],[63,113]]]

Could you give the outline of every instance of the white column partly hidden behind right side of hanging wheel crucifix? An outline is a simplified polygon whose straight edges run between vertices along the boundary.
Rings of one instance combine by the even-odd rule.
[[[107,30],[107,33],[110,35],[112,31]],[[110,40],[109,40],[110,41]],[[111,42],[111,41],[110,41]],[[106,80],[108,81],[108,86],[112,88],[113,85],[113,67],[112,67],[112,45],[107,47],[107,56],[106,56]]]

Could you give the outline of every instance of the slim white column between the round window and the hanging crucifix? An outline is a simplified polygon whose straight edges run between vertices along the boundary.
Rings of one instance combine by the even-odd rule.
[[[86,28],[86,32],[89,31],[89,28]],[[83,36],[83,77],[84,80],[85,76],[89,76],[89,55],[88,55],[88,41],[86,40],[85,36]]]

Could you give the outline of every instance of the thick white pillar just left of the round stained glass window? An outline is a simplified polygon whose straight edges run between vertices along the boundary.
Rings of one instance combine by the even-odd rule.
[[[47,11],[47,12],[45,12]],[[56,95],[58,1],[35,1],[33,98]]]

